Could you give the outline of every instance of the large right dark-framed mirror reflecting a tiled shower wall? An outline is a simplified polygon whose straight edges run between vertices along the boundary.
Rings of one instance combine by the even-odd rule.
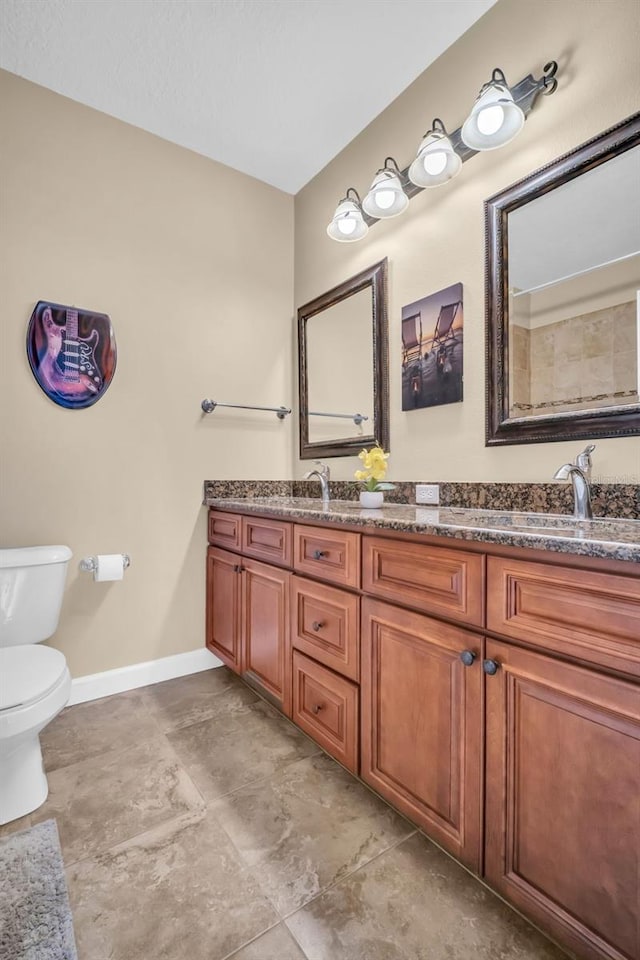
[[[640,434],[640,113],[485,216],[487,446]]]

